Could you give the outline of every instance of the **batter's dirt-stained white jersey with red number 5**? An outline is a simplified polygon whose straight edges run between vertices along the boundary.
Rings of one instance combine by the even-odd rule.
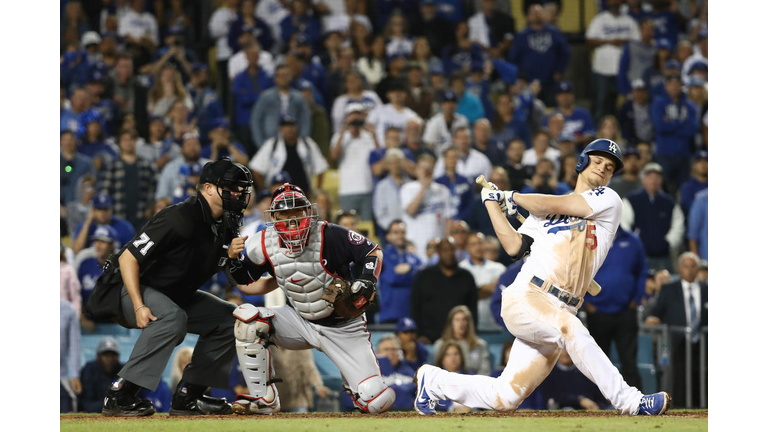
[[[533,238],[531,255],[518,278],[537,276],[584,297],[605,261],[621,222],[621,198],[605,186],[581,193],[592,208],[586,218],[531,214],[518,232]]]

